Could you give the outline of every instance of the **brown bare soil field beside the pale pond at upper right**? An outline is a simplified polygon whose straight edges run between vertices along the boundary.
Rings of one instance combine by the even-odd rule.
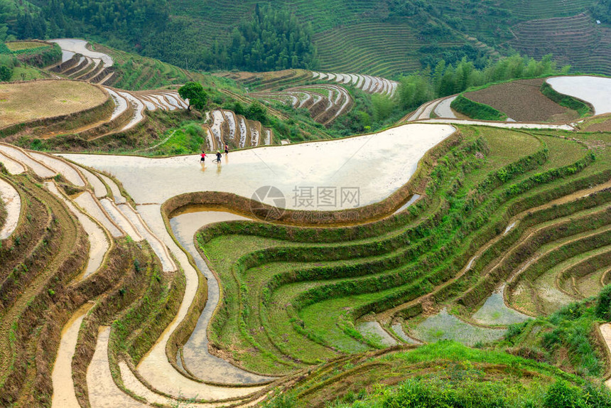
[[[570,122],[577,112],[561,107],[543,95],[544,78],[516,80],[465,93],[472,101],[487,104],[518,122]]]

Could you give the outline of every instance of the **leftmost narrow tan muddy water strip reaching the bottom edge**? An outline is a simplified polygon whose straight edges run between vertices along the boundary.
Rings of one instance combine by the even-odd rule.
[[[53,408],[80,407],[72,381],[72,357],[75,354],[80,324],[92,306],[93,304],[87,303],[78,309],[62,329],[60,347],[51,374],[53,380],[51,407]]]

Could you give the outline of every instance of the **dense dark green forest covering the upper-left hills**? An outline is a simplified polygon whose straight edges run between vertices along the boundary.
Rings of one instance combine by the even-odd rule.
[[[235,27],[229,38],[215,41],[209,48],[201,48],[194,43],[181,42],[190,37],[188,33],[192,28],[179,21],[171,22],[166,0],[32,0],[20,3],[21,6],[17,6],[14,1],[0,0],[0,41],[98,36],[119,48],[144,51],[146,55],[179,64],[183,59],[182,55],[173,54],[176,49],[195,48],[195,54],[187,54],[191,57],[191,68],[202,70],[317,67],[311,28],[301,24],[287,10],[270,6],[257,4],[252,17]]]

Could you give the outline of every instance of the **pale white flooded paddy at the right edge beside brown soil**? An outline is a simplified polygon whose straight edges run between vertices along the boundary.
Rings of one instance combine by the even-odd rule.
[[[553,77],[547,80],[556,92],[576,97],[590,102],[594,107],[594,114],[611,112],[611,78],[603,77]]]

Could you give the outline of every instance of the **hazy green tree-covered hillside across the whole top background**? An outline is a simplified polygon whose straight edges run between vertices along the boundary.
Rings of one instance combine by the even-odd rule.
[[[517,50],[611,73],[608,9],[607,0],[0,0],[0,41],[86,37],[192,70],[396,77],[442,59],[482,68]]]

